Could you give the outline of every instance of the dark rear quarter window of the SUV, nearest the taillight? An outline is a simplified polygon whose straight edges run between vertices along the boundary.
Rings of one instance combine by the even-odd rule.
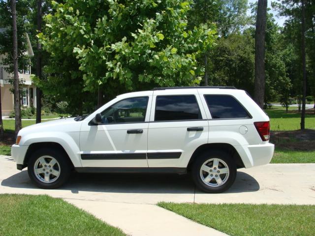
[[[252,118],[234,97],[229,95],[205,95],[213,119]]]

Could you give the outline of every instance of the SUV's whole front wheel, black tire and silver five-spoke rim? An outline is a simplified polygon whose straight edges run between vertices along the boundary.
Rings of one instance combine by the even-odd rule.
[[[67,158],[59,150],[37,150],[28,161],[29,176],[40,188],[60,187],[68,179],[70,171]]]

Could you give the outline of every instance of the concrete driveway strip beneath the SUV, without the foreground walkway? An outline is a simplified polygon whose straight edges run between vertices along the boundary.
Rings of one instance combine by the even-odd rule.
[[[0,193],[48,194],[53,197],[117,203],[252,203],[315,205],[315,164],[269,164],[240,169],[233,186],[221,194],[195,189],[189,175],[78,174],[60,189],[35,187],[27,170],[18,171],[0,156]]]

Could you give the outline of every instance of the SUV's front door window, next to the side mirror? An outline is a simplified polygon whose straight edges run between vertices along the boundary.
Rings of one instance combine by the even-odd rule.
[[[148,97],[133,97],[119,101],[101,113],[102,123],[144,122]]]

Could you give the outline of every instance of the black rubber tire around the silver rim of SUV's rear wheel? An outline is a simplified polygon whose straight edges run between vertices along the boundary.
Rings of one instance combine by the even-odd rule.
[[[209,186],[209,185],[207,185],[202,180],[202,177],[200,174],[202,165],[207,160],[210,160],[212,158],[221,159],[223,162],[226,163],[227,168],[229,170],[228,177],[226,178],[225,182],[221,186]],[[220,169],[218,169],[218,170],[220,170]],[[211,170],[211,171],[214,171],[214,170]],[[207,175],[207,172],[202,172],[202,173],[205,173],[205,175]],[[221,192],[227,190],[234,183],[235,178],[236,178],[236,173],[237,173],[237,168],[236,168],[236,164],[235,164],[233,158],[228,153],[226,153],[224,151],[220,151],[220,150],[212,150],[212,151],[203,152],[193,162],[192,170],[191,170],[192,179],[193,179],[194,183],[196,184],[197,188],[200,189],[201,191],[207,192],[207,193],[221,193]],[[214,173],[214,174],[217,174],[217,173]],[[225,177],[224,174],[223,175],[221,174],[221,176]],[[211,181],[215,181],[215,180],[211,180]]]

